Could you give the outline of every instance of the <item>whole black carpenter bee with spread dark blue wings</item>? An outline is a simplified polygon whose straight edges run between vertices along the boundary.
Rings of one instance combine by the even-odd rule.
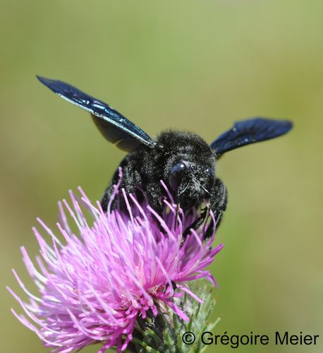
[[[237,122],[210,145],[195,133],[183,131],[164,131],[153,139],[108,104],[59,80],[37,78],[63,99],[90,112],[102,135],[128,152],[120,164],[121,187],[126,193],[145,195],[152,208],[162,213],[165,190],[160,181],[163,180],[183,210],[207,203],[217,226],[227,203],[226,186],[215,175],[217,160],[235,148],[284,135],[293,126],[291,121],[257,117]],[[117,169],[102,197],[104,210],[118,179]],[[207,212],[205,208],[189,228],[200,227]]]

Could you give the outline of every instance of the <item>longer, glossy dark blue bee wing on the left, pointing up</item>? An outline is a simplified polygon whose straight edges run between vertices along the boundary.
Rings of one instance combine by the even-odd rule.
[[[156,142],[140,127],[100,100],[78,90],[68,83],[37,76],[38,80],[64,100],[90,112],[102,135],[111,143],[127,152],[132,152],[140,144],[154,148]]]

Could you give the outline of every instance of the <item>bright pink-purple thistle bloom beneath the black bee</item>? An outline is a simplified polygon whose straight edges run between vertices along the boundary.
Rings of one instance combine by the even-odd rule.
[[[12,309],[16,318],[54,352],[71,352],[96,342],[103,343],[99,352],[113,346],[120,352],[133,339],[138,316],[145,319],[148,311],[157,316],[165,313],[167,306],[189,321],[176,298],[186,292],[201,301],[186,283],[197,278],[205,277],[216,285],[205,270],[222,248],[220,244],[210,249],[214,234],[204,241],[207,229],[192,229],[183,239],[183,229],[197,215],[185,216],[167,201],[169,211],[160,217],[123,191],[129,215],[111,210],[111,201],[104,213],[99,203],[92,205],[83,190],[79,191],[80,199],[70,193],[73,208],[65,200],[63,205],[59,203],[61,222],[57,227],[65,244],[38,219],[51,240],[51,245],[47,244],[33,229],[41,255],[36,258],[38,269],[25,248],[21,249],[40,295],[29,292],[13,270],[29,297],[25,302],[8,288],[25,312],[18,315]],[[92,215],[92,225],[80,206]],[[80,236],[71,231],[66,214],[73,218]]]

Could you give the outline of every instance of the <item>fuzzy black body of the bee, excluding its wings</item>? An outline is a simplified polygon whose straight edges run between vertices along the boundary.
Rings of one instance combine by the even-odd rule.
[[[195,133],[183,131],[164,131],[156,139],[154,149],[142,147],[130,152],[122,160],[121,188],[126,193],[137,193],[142,198],[142,191],[150,205],[158,213],[162,213],[164,204],[161,196],[166,191],[161,179],[171,191],[174,201],[183,210],[200,206],[208,200],[217,220],[221,220],[222,212],[226,209],[226,187],[223,182],[214,177],[216,169],[216,155],[209,145]],[[173,166],[184,164],[185,176],[180,176],[176,185],[176,176],[171,172]],[[114,184],[119,180],[118,169],[110,186],[102,198],[102,207],[107,208]],[[138,192],[139,190],[139,192]]]

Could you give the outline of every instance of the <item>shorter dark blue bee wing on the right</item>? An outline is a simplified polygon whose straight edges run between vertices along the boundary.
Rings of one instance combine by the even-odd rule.
[[[287,133],[293,124],[288,120],[272,120],[254,118],[238,121],[233,128],[223,133],[211,143],[211,148],[217,156],[229,150],[234,150],[250,143],[256,143],[275,138]]]

